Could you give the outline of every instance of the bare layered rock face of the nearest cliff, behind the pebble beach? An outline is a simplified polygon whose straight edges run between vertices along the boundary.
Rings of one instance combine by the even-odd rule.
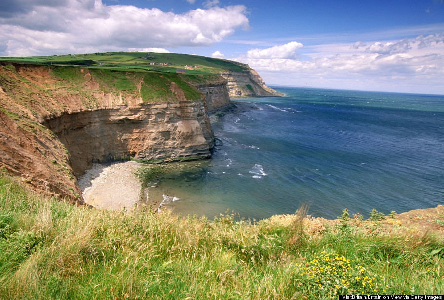
[[[203,101],[66,113],[43,125],[65,145],[77,176],[92,162],[205,158],[213,147]]]

